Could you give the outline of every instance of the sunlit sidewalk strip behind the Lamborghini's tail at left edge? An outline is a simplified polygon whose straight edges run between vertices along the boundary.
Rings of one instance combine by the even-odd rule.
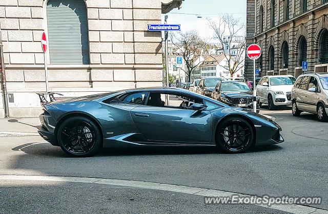
[[[0,133],[37,133],[34,126],[39,125],[38,117],[0,119]]]

